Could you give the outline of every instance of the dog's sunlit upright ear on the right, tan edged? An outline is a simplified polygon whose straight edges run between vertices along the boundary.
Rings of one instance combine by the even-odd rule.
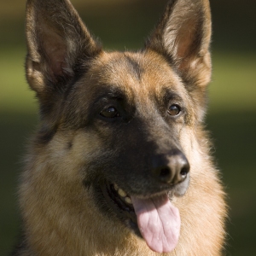
[[[146,47],[166,55],[183,79],[204,86],[211,79],[211,26],[208,0],[171,0]]]

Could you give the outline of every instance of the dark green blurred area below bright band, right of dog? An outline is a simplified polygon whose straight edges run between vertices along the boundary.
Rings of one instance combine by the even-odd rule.
[[[255,255],[255,117],[254,108],[210,113],[207,120],[228,193],[227,255],[232,256]]]

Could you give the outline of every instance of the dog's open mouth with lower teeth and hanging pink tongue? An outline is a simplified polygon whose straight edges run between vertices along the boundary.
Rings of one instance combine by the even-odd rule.
[[[168,253],[176,245],[180,216],[168,193],[141,198],[127,194],[117,184],[102,183],[102,193],[116,216],[157,253]]]

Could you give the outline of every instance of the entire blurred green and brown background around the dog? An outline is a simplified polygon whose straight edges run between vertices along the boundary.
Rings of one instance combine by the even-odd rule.
[[[38,122],[28,90],[25,0],[0,0],[0,255],[20,230],[16,187],[25,144]],[[107,49],[137,49],[166,0],[73,0]],[[226,255],[256,255],[256,1],[212,0],[213,76],[207,128],[228,193]],[[186,255],[183,255],[186,256]]]

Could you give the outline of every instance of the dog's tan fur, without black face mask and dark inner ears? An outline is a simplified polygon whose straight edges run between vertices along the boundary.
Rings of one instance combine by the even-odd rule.
[[[151,251],[141,238],[125,228],[119,220],[106,218],[93,201],[92,189],[84,189],[83,181],[90,177],[86,167],[90,165],[91,159],[101,158],[105,143],[102,137],[108,136],[110,132],[108,127],[100,126],[99,131],[96,131],[79,126],[90,111],[90,98],[93,98],[94,92],[96,93],[94,88],[98,84],[118,87],[125,92],[128,102],[136,102],[137,112],[148,123],[148,133],[156,139],[161,139],[163,136],[156,126],[163,121],[160,118],[154,119],[158,113],[152,97],[160,98],[163,87],[179,91],[186,104],[185,107],[189,109],[189,118],[186,123],[188,125],[184,125],[184,119],[177,120],[177,139],[189,160],[191,176],[186,194],[183,197],[174,197],[172,200],[179,209],[182,223],[177,247],[172,253],[162,255],[221,255],[226,216],[224,192],[218,172],[209,156],[211,145],[201,124],[205,113],[206,85],[210,80],[211,69],[208,52],[211,34],[208,1],[189,1],[191,6],[195,4],[194,9],[203,6],[202,9],[206,10],[205,14],[201,12],[207,20],[202,28],[202,32],[206,35],[202,36],[204,41],[201,46],[195,47],[196,54],[193,51],[188,53],[187,50],[188,45],[193,44],[193,40],[184,40],[184,46],[179,47],[177,41],[171,40],[176,37],[175,35],[172,35],[171,39],[170,35],[163,35],[168,33],[166,29],[172,31],[170,27],[177,26],[183,17],[183,14],[181,17],[174,15],[171,21],[169,20],[173,4],[180,6],[178,8],[182,9],[183,13],[189,9],[189,6],[185,6],[188,4],[187,1],[170,1],[169,10],[148,39],[146,48],[138,53],[102,51],[90,38],[84,25],[81,25],[81,20],[78,20],[78,26],[83,27],[80,32],[83,34],[82,38],[87,38],[87,41],[79,39],[79,44],[85,44],[84,42],[90,44],[87,49],[90,60],[82,61],[83,67],[88,71],[82,73],[76,82],[76,90],[72,92],[73,100],[64,104],[58,99],[59,96],[55,96],[55,100],[52,100],[53,96],[49,96],[49,90],[55,92],[55,89],[46,90],[46,86],[49,80],[55,82],[58,79],[57,76],[53,77],[53,73],[65,76],[67,83],[71,81],[73,73],[76,73],[73,67],[75,58],[79,55],[76,47],[80,46],[78,44],[75,46],[69,41],[71,43],[68,45],[71,46],[65,59],[62,56],[65,54],[62,49],[66,48],[58,46],[55,54],[60,56],[57,62],[62,64],[60,67],[58,63],[50,64],[52,71],[48,71],[49,61],[47,58],[44,60],[35,47],[38,45],[36,42],[38,38],[34,35],[37,28],[34,14],[42,12],[42,15],[45,15],[42,7],[44,4],[41,5],[39,2],[29,1],[27,7],[29,49],[26,62],[27,78],[32,89],[37,91],[41,107],[49,105],[52,110],[43,113],[40,131],[32,140],[26,157],[26,168],[20,184],[20,207],[24,219],[26,246],[21,247],[14,255],[158,255]],[[68,1],[64,2],[68,3],[69,9],[74,13],[71,4]],[[75,16],[78,15],[75,13]],[[194,16],[194,23],[197,22],[197,18]],[[53,21],[48,20],[45,26],[49,26],[51,22]],[[191,24],[193,20],[188,22]],[[183,30],[186,31],[186,26]],[[63,36],[61,32],[57,34]],[[49,37],[55,38],[55,32]],[[161,39],[158,37],[166,38],[162,41],[166,45],[160,46]],[[186,34],[183,35],[182,32],[178,40],[182,40],[183,37],[186,37]],[[61,39],[57,44],[63,44]],[[53,49],[55,47],[57,46],[53,46]],[[166,61],[166,56],[163,55],[167,55],[167,58],[171,57],[176,68],[171,67]],[[142,71],[138,77],[125,61],[127,57],[139,64]],[[116,62],[118,65],[114,64]],[[190,89],[187,89],[188,85],[186,85],[188,80],[194,84]],[[72,122],[67,121],[70,119],[67,113],[72,113]],[[165,126],[164,123],[163,125]],[[49,131],[54,135],[52,137],[49,135],[50,139],[47,143],[41,143],[41,137],[47,137]],[[68,147],[69,144],[72,146]]]

